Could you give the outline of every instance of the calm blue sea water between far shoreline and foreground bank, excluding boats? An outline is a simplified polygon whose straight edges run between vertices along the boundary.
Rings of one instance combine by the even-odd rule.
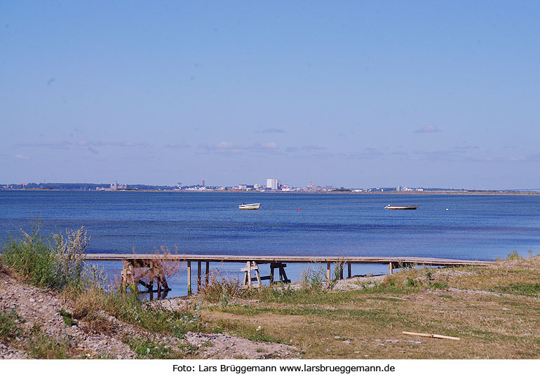
[[[262,208],[238,210],[242,202]],[[387,204],[420,207],[389,211]],[[35,216],[44,233],[88,228],[89,253],[150,253],[161,245],[185,254],[455,259],[540,252],[540,196],[534,195],[0,191],[0,240],[29,229]],[[290,269],[293,280],[301,270]],[[379,272],[386,268],[354,271]],[[179,280],[183,291],[185,277]]]

